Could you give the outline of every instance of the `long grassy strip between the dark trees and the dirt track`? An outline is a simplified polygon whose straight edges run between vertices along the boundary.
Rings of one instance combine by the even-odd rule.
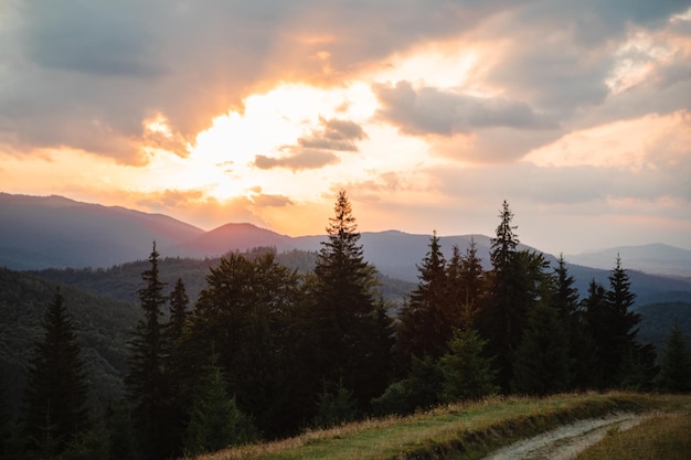
[[[691,396],[634,393],[490,398],[404,418],[372,419],[196,460],[478,459],[518,439],[613,413],[689,410]]]

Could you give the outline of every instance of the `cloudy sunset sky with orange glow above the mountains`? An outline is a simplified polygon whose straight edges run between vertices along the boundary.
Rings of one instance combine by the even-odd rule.
[[[0,0],[0,192],[691,249],[691,1]]]

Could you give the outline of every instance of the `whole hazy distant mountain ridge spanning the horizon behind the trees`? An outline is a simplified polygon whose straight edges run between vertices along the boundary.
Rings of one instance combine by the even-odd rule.
[[[252,224],[226,224],[204,232],[162,214],[148,214],[118,206],[81,203],[62,196],[26,196],[0,193],[0,267],[15,270],[44,268],[107,268],[146,259],[156,240],[162,257],[213,258],[232,250],[245,252],[273,246],[278,252],[317,252],[326,235],[291,237]],[[432,235],[400,231],[363,232],[366,260],[392,278],[417,281],[417,265],[428,250]],[[465,252],[470,240],[489,268],[491,238],[485,235],[443,236],[440,245],[450,257],[456,245]],[[532,249],[520,246],[521,249]],[[538,250],[538,249],[534,249]],[[567,256],[570,271],[584,295],[587,282],[606,281],[608,270],[621,256],[625,268],[661,274],[631,272],[638,289],[655,293],[662,289],[685,298],[691,292],[691,252],[666,245],[619,247],[599,253]],[[555,258],[545,255],[554,264]],[[674,279],[668,279],[674,277]]]

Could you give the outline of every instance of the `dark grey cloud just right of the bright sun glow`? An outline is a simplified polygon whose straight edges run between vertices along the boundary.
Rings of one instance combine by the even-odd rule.
[[[493,127],[555,127],[519,100],[468,96],[432,87],[414,89],[408,82],[374,85],[373,89],[382,105],[379,115],[413,135],[451,136]]]

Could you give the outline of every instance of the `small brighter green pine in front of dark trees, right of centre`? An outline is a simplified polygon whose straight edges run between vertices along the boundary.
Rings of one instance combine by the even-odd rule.
[[[445,400],[478,399],[497,392],[491,360],[483,356],[486,344],[474,329],[456,331],[448,353],[439,360]]]

